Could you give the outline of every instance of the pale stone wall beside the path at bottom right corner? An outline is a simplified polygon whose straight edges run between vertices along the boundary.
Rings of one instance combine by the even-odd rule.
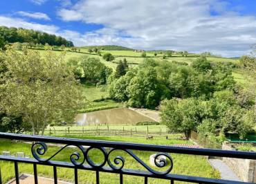
[[[226,143],[223,143],[222,149],[235,150]],[[223,162],[237,174],[241,181],[256,183],[256,160],[223,158]]]

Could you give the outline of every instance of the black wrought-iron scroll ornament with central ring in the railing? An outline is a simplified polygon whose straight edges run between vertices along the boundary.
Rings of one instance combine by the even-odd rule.
[[[42,158],[41,156],[44,156],[44,154],[46,154],[46,151],[48,150],[48,146],[46,145],[45,142],[34,142],[32,147],[31,147],[31,152],[33,154],[33,157],[36,160],[38,160],[39,162],[46,163],[46,162],[50,161],[52,158],[54,158],[57,154],[59,154],[60,151],[62,151],[66,147],[70,147],[70,146],[75,146],[78,149],[80,149],[80,151],[82,152],[82,156],[77,151],[73,152],[73,154],[70,155],[71,163],[73,163],[73,165],[76,166],[76,167],[82,166],[84,164],[85,160],[86,160],[86,163],[88,163],[91,167],[96,168],[96,169],[97,168],[103,169],[102,167],[106,163],[108,163],[108,165],[109,165],[109,167],[111,167],[111,169],[121,171],[122,168],[125,166],[125,158],[123,158],[122,156],[115,156],[115,158],[113,158],[113,163],[115,163],[115,165],[112,163],[111,158],[110,158],[111,153],[113,151],[116,151],[116,150],[125,151],[132,158],[134,158],[134,160],[136,160],[140,165],[142,165],[145,169],[147,169],[147,171],[151,172],[152,174],[165,175],[165,174],[170,173],[172,171],[172,167],[173,167],[172,157],[167,153],[157,153],[155,158],[154,158],[154,164],[156,165],[156,167],[163,168],[163,167],[168,166],[165,171],[159,172],[159,171],[156,171],[155,169],[152,169],[152,167],[149,167],[149,165],[147,165],[143,160],[138,158],[138,156],[136,156],[136,154],[134,154],[134,152],[131,151],[130,149],[115,149],[115,148],[112,148],[112,149],[110,149],[109,152],[107,152],[107,149],[105,149],[104,147],[93,147],[93,146],[91,146],[91,147],[88,147],[88,148],[85,149],[81,145],[65,145],[60,150],[58,150],[55,154],[53,154],[53,156],[50,156],[49,158]],[[102,154],[104,155],[104,160],[102,161],[102,163],[96,164],[96,163],[93,162],[93,160],[91,160],[89,158],[89,151],[91,149],[98,149],[99,151],[102,152]],[[157,161],[159,156],[165,156],[170,161],[170,165],[168,165],[167,159]],[[82,159],[81,159],[82,161],[78,162],[78,160],[80,160],[81,157],[82,157]]]

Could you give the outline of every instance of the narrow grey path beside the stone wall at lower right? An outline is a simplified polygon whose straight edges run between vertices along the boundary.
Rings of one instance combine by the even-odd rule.
[[[209,162],[212,165],[212,167],[219,170],[219,172],[221,173],[221,179],[232,180],[232,181],[241,181],[241,180],[239,180],[237,175],[230,169],[230,167],[228,167],[228,165],[223,163],[222,160],[209,159]]]

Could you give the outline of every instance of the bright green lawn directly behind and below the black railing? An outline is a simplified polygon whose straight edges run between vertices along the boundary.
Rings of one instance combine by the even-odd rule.
[[[86,137],[84,137],[86,138]],[[90,139],[92,139],[90,137]],[[158,144],[158,145],[172,145],[176,143],[191,143],[184,140],[165,140],[165,138],[158,138],[158,140],[142,140],[141,138],[131,138],[131,137],[97,137],[95,139],[100,140],[118,140],[118,141],[127,141],[129,142],[143,142],[147,144]],[[47,156],[53,155],[58,149],[57,147],[48,147]],[[107,149],[109,150],[109,149]],[[9,140],[1,140],[0,151],[11,151],[12,154],[17,151],[24,151],[26,155],[30,154],[30,144],[25,144],[22,142],[15,142]],[[74,148],[66,148],[65,151],[60,152],[53,160],[68,161],[69,156],[74,152],[79,151]],[[141,158],[145,163],[149,164],[149,156],[153,154],[151,151],[134,151],[136,156]],[[90,158],[95,161],[95,163],[100,163],[102,160],[102,154],[95,149],[91,150],[89,154]],[[111,156],[111,160],[115,156],[122,156],[125,158],[125,167],[129,169],[144,169],[139,165],[134,158],[131,158],[124,151],[114,151]],[[174,167],[172,169],[172,174],[185,174],[191,176],[203,176],[210,178],[219,178],[219,172],[215,169],[212,169],[208,160],[204,156],[190,156],[184,154],[171,154]],[[15,176],[14,163],[3,161],[0,163],[1,172],[3,177],[3,183],[6,183],[11,178]],[[154,169],[157,169],[154,167]],[[166,169],[166,168],[165,168]],[[37,167],[39,176],[53,177],[53,167],[38,165]],[[19,163],[19,173],[28,173],[33,174],[33,165]],[[57,167],[57,176],[60,180],[74,182],[73,169],[60,168]],[[100,172],[100,183],[118,183],[119,176],[118,174],[108,174]],[[80,183],[95,183],[95,172],[79,170],[78,171],[78,180]],[[137,176],[124,176],[124,183],[143,183],[142,177]],[[170,181],[164,181],[160,179],[149,178],[149,183],[170,183]],[[179,182],[176,182],[179,183]]]

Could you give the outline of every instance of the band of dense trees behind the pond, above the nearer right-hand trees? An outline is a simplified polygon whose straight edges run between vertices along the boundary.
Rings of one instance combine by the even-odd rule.
[[[235,80],[228,65],[209,62],[200,57],[192,66],[179,66],[163,60],[145,59],[138,68],[125,75],[109,77],[109,95],[132,107],[154,109],[161,100],[205,96],[214,91],[233,89]]]

